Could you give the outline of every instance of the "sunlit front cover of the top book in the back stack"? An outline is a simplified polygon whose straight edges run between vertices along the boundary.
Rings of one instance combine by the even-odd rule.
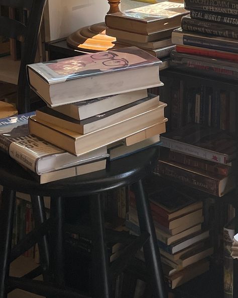
[[[188,14],[183,3],[164,1],[161,3],[126,10],[124,13],[115,13],[113,16],[138,19],[144,22],[158,21],[159,19],[173,18]]]

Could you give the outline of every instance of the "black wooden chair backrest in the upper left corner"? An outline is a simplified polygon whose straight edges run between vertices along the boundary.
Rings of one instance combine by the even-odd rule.
[[[46,0],[0,0],[0,5],[29,11],[27,24],[0,17],[0,35],[19,40],[23,44],[17,98],[17,108],[21,114],[30,111],[26,65],[35,61],[45,4]]]

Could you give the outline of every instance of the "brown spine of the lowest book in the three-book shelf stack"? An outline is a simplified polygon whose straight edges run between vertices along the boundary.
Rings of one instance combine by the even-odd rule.
[[[210,177],[204,177],[197,173],[189,172],[185,169],[175,167],[161,161],[158,162],[156,172],[166,178],[182,182],[186,186],[190,186],[216,196],[219,195],[219,182]]]

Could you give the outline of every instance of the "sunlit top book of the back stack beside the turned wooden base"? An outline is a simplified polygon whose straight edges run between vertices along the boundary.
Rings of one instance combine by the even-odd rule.
[[[182,16],[189,12],[182,3],[161,3],[105,16],[106,26],[139,34],[149,34],[179,27]]]

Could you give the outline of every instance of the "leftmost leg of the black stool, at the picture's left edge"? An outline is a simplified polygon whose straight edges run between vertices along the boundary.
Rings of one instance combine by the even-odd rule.
[[[13,237],[13,217],[16,192],[4,188],[2,196],[2,218],[0,225],[0,298],[8,296],[5,280],[9,276],[10,254]]]

